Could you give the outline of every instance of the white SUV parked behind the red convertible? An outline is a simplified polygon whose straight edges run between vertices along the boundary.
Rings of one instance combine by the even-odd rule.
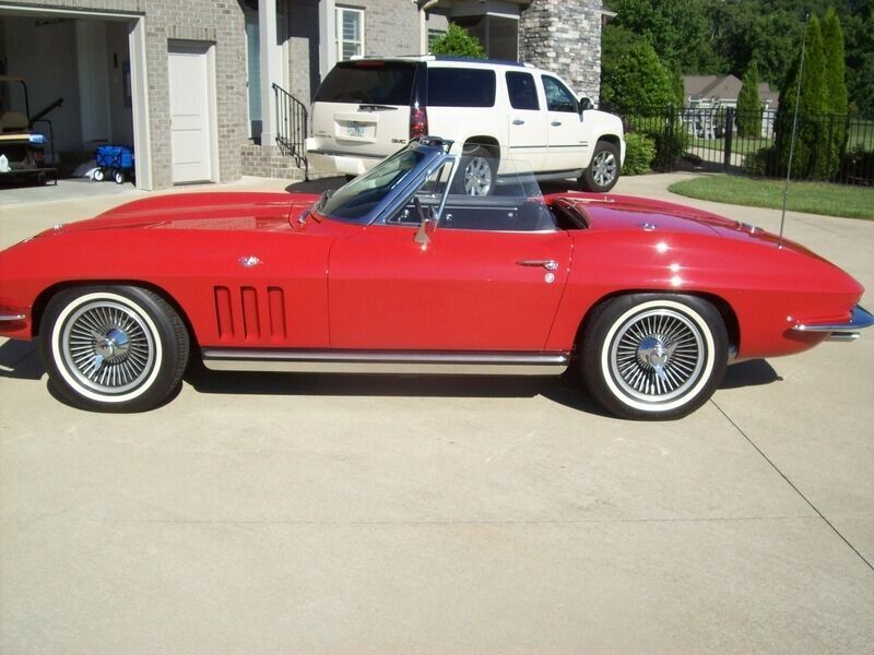
[[[504,159],[538,178],[576,178],[606,192],[625,157],[622,121],[592,109],[558,76],[530,64],[434,56],[338,63],[316,92],[307,158],[349,176],[373,168],[427,133],[464,155],[459,183],[470,195],[495,190]]]

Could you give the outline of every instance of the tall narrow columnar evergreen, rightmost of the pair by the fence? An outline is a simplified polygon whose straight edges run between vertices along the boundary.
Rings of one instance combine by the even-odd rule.
[[[843,32],[840,19],[829,8],[823,21],[823,47],[826,57],[826,103],[828,118],[828,152],[826,174],[834,177],[840,167],[840,157],[847,148],[847,73],[843,53]]]

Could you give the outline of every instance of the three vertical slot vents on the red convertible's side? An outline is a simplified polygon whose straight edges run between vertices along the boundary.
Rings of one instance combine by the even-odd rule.
[[[280,287],[214,288],[218,338],[282,342],[287,336],[285,293]]]

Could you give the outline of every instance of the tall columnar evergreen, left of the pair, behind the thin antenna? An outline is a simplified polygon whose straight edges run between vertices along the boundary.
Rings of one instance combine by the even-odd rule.
[[[813,16],[807,24],[804,70],[801,70],[801,53],[795,58],[789,74],[780,87],[780,107],[775,123],[775,151],[782,170],[789,165],[792,141],[792,122],[798,102],[798,136],[792,157],[792,171],[799,178],[825,177],[828,136],[823,130],[823,116],[828,108],[826,102],[825,52],[819,20]],[[801,94],[799,95],[799,85]]]

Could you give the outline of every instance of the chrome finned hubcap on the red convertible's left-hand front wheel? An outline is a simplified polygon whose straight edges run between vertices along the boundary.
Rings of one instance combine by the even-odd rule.
[[[134,389],[155,364],[151,331],[119,302],[95,301],[74,311],[63,325],[61,348],[67,369],[101,393]]]

